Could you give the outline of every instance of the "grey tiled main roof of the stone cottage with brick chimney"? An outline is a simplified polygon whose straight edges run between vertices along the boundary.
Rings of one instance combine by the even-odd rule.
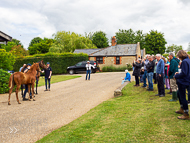
[[[90,56],[123,56],[136,55],[137,44],[123,44],[110,46],[92,53]]]

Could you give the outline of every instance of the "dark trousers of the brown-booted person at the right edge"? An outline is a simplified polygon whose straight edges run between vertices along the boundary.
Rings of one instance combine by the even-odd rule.
[[[188,103],[186,100],[186,89],[188,90],[190,87],[189,85],[184,85],[181,83],[177,83],[178,85],[178,98],[179,98],[179,103],[181,105],[181,107],[183,108],[184,112],[189,112],[189,108],[188,108]]]

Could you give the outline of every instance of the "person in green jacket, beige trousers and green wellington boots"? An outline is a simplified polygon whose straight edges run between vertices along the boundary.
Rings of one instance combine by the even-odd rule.
[[[175,73],[178,72],[178,62],[174,59],[174,53],[169,53],[170,59],[170,68],[169,68],[169,77],[170,77],[170,88],[172,89],[172,99],[169,101],[177,101],[177,83],[176,80],[173,78]]]

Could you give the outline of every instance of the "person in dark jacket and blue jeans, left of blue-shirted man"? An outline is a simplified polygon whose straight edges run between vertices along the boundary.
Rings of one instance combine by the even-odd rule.
[[[154,61],[153,57],[149,56],[148,57],[149,63],[147,64],[147,77],[148,77],[148,86],[149,88],[147,89],[148,91],[153,91],[153,75],[154,75]]]

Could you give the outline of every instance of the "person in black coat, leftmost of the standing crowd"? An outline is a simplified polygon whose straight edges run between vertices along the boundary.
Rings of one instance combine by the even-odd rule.
[[[136,81],[136,84],[134,86],[139,86],[139,76],[142,67],[141,59],[138,59],[136,63],[133,63],[133,67],[134,67],[133,76],[135,76],[135,81]]]

